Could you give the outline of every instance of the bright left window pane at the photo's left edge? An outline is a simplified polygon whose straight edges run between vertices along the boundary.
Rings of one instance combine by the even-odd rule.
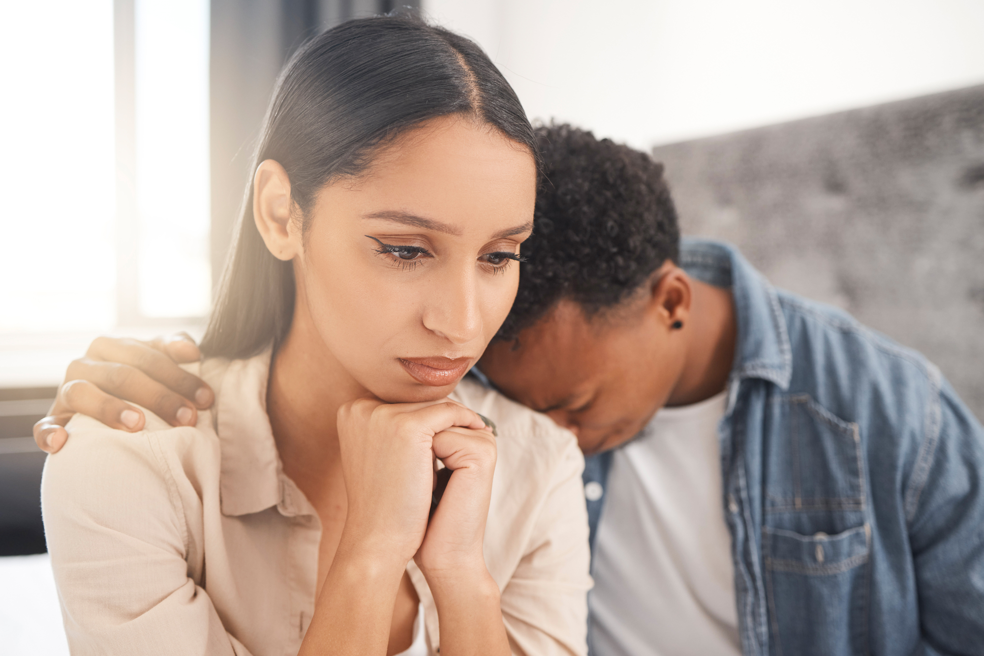
[[[0,332],[115,321],[113,2],[0,9]]]

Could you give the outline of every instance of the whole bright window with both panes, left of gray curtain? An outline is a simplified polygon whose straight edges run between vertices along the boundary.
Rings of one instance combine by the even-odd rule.
[[[4,7],[0,387],[54,384],[99,333],[202,325],[209,21],[209,0]]]

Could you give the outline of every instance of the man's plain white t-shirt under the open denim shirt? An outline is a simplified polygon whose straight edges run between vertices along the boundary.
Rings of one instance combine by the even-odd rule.
[[[612,455],[598,524],[592,651],[740,655],[717,424],[725,392],[656,413]]]

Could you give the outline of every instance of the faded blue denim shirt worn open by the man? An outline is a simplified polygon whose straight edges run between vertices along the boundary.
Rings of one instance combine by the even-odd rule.
[[[685,240],[680,264],[737,312],[718,432],[742,653],[984,654],[984,430],[939,370],[730,246]]]

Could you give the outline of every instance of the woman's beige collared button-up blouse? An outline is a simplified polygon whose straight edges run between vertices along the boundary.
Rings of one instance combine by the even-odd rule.
[[[198,426],[147,412],[138,434],[77,415],[48,456],[44,525],[72,653],[296,654],[314,613],[321,522],[281,471],[266,413],[270,353],[189,367],[216,392]],[[586,653],[587,517],[574,436],[465,379],[498,425],[485,562],[515,654]],[[438,617],[407,571],[429,652]]]

